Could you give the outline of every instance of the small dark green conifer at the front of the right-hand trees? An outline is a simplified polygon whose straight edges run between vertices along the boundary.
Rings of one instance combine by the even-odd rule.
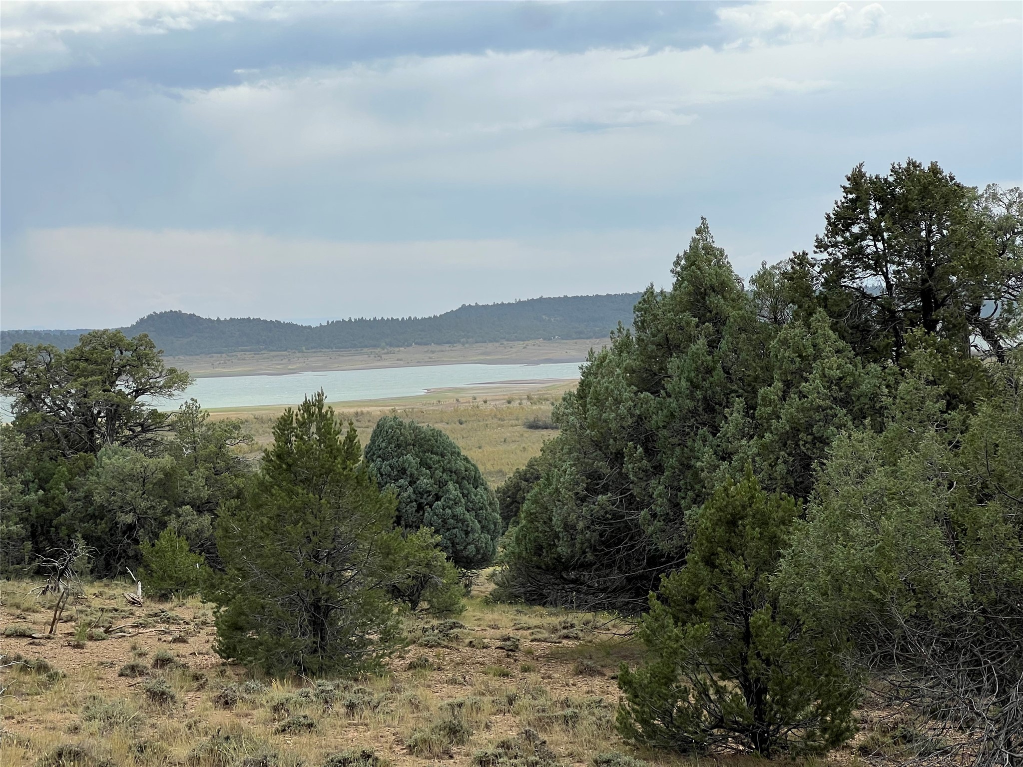
[[[837,647],[804,635],[771,588],[798,513],[750,468],[704,504],[685,567],[640,623],[652,660],[619,674],[623,735],[683,753],[739,742],[765,757],[851,737],[858,688]]]

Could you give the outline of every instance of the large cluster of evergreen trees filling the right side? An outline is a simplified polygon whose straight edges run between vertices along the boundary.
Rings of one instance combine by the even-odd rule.
[[[1021,235],[1019,189],[857,167],[812,255],[744,284],[705,221],[591,354],[498,493],[496,593],[649,611],[625,735],[820,750],[868,685],[1019,762]]]

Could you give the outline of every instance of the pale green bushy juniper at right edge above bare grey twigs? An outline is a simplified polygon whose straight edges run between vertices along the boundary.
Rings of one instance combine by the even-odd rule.
[[[949,413],[942,388],[908,376],[882,434],[836,441],[779,581],[898,701],[978,733],[990,764],[1023,746],[1018,354],[988,366],[987,400]]]

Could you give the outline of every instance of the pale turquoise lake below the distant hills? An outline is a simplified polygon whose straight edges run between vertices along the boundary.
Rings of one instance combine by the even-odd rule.
[[[196,378],[184,394],[205,408],[253,405],[296,405],[320,389],[327,402],[383,400],[413,397],[431,389],[477,387],[485,394],[488,384],[508,380],[578,378],[578,362],[543,365],[424,365],[369,370],[319,370],[287,375],[236,375]],[[176,403],[172,403],[177,407]],[[162,404],[161,409],[170,409]]]

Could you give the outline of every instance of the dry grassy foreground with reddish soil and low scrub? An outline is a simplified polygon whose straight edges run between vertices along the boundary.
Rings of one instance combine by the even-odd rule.
[[[7,585],[0,622],[45,632],[45,610],[28,604],[30,586]],[[0,681],[4,767],[53,764],[47,755],[60,749],[65,762],[80,749],[74,763],[91,767],[320,767],[351,749],[377,759],[352,767],[438,759],[468,766],[480,750],[527,728],[540,733],[554,760],[543,767],[587,765],[608,752],[653,767],[756,761],[696,760],[622,742],[613,726],[613,675],[637,649],[621,637],[628,627],[610,616],[488,604],[482,587],[457,625],[407,618],[411,644],[385,673],[281,681],[222,662],[212,651],[209,605],[196,598],[131,607],[120,596],[125,590],[109,582],[89,586],[55,638],[0,638],[4,663],[20,657],[33,667],[8,667]],[[144,633],[72,643],[76,616],[91,624],[110,614],[114,625],[137,624],[133,630]],[[120,675],[129,664],[132,673]],[[144,676],[134,675],[140,670]],[[849,762],[847,753],[810,764]]]

